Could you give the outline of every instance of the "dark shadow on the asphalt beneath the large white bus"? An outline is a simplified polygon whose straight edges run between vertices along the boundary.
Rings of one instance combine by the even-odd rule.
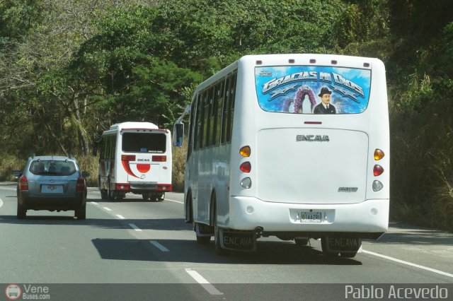
[[[161,252],[150,240],[96,239],[93,245],[102,259],[133,261],[195,262],[205,264],[326,264],[362,265],[354,259],[326,257],[322,252],[290,242],[260,242],[253,253],[231,252],[218,256],[214,242],[197,244],[195,240],[159,240],[170,252]]]

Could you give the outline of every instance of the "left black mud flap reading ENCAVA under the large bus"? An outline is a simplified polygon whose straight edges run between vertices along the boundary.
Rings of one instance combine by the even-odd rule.
[[[255,252],[256,233],[248,231],[229,231],[219,229],[220,245],[222,249]]]

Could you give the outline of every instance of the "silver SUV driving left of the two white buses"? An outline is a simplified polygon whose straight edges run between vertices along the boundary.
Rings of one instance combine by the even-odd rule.
[[[86,181],[88,172],[80,172],[76,159],[62,156],[28,158],[18,177],[17,218],[24,219],[27,210],[74,210],[79,220],[86,218]]]

